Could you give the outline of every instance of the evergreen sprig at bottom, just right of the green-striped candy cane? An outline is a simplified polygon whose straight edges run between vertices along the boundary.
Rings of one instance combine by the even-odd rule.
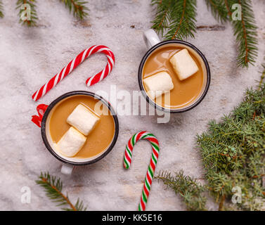
[[[203,195],[205,187],[196,179],[183,174],[183,170],[175,172],[160,172],[155,179],[162,181],[168,188],[172,188],[176,194],[181,195],[187,210],[206,210],[206,198]]]

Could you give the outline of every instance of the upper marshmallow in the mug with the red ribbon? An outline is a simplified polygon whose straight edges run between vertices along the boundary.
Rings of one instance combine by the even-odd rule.
[[[67,123],[78,129],[82,134],[88,135],[89,132],[96,126],[100,118],[86,106],[79,104],[67,117]]]

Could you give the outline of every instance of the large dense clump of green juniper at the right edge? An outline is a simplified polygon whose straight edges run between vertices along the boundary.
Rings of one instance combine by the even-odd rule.
[[[247,89],[245,99],[221,122],[209,123],[198,136],[206,178],[219,200],[231,199],[233,186],[242,190],[243,210],[260,210],[265,205],[265,84]],[[257,201],[260,202],[259,206]]]

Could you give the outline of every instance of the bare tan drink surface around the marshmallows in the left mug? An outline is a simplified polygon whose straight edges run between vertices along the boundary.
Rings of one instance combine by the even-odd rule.
[[[58,103],[50,120],[50,132],[53,142],[57,143],[63,134],[65,134],[65,132],[71,127],[70,124],[67,124],[66,120],[77,105],[82,103],[91,108],[91,110],[94,110],[98,101],[98,99],[95,99],[92,96],[77,95],[66,98]],[[106,106],[105,108],[108,110]],[[96,127],[89,133],[86,143],[84,143],[84,146],[79,150],[77,155],[75,155],[75,158],[90,158],[96,156],[110,146],[115,134],[114,119],[110,110],[108,110],[108,115],[99,116],[101,119],[96,124]]]

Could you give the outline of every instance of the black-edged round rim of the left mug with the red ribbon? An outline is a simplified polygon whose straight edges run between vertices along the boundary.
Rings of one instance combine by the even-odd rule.
[[[76,96],[76,95],[91,96],[91,97],[96,98],[99,101],[101,101],[103,104],[108,106],[108,109],[110,110],[110,113],[111,113],[113,120],[115,122],[115,134],[114,134],[114,137],[113,137],[112,142],[110,143],[110,146],[108,147],[108,149],[105,150],[105,152],[102,155],[99,155],[98,158],[95,158],[95,159],[87,161],[87,162],[72,162],[70,160],[65,160],[65,158],[60,157],[60,155],[58,155],[53,150],[53,148],[51,148],[51,145],[49,144],[49,141],[48,141],[47,136],[46,136],[46,120],[48,118],[49,113],[53,109],[53,107],[57,103],[62,101],[64,98],[67,98],[70,96]],[[67,93],[63,94],[62,96],[56,98],[56,100],[52,101],[51,104],[46,109],[44,116],[42,118],[42,121],[41,121],[41,136],[42,136],[42,140],[44,141],[44,145],[46,146],[46,148],[49,150],[51,155],[53,155],[57,160],[60,160],[60,162],[64,162],[64,163],[66,163],[68,165],[72,165],[72,166],[90,165],[90,164],[93,164],[93,163],[98,162],[99,160],[103,159],[106,155],[108,155],[108,153],[110,153],[112,148],[115,146],[115,143],[117,142],[118,135],[119,135],[119,121],[118,121],[117,115],[115,113],[115,110],[112,108],[110,103],[108,101],[106,101],[103,97],[98,96],[97,94],[94,94],[93,92],[90,92],[90,91],[70,91],[70,92],[67,92]]]

